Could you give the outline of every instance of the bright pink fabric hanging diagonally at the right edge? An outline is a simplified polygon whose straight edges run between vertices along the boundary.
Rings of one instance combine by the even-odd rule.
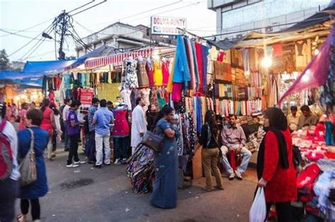
[[[290,94],[294,94],[295,92],[300,92],[302,90],[309,90],[326,84],[329,70],[329,52],[334,35],[335,28],[333,27],[326,42],[320,49],[319,54],[312,58],[312,61],[310,61],[305,70],[303,70],[297,80],[293,82],[293,85],[291,85],[290,88],[283,94],[281,99],[279,99],[279,106],[281,105],[283,99]]]

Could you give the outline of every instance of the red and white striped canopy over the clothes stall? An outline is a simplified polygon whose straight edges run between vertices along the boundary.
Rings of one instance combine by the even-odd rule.
[[[150,48],[150,49],[143,49],[140,51],[131,51],[122,54],[115,54],[107,57],[93,58],[85,62],[85,68],[90,69],[107,65],[121,66],[124,59],[128,58],[129,56],[132,56],[134,58],[136,56],[148,57],[151,56],[152,52],[153,49]]]

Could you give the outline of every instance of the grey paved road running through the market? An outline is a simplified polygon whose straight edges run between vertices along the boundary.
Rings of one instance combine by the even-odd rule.
[[[60,152],[47,162],[49,193],[40,199],[42,221],[248,221],[254,171],[242,181],[223,178],[223,191],[204,192],[204,178],[195,180],[178,192],[177,209],[164,210],[149,204],[149,194],[131,192],[124,165],[69,169],[66,155]]]

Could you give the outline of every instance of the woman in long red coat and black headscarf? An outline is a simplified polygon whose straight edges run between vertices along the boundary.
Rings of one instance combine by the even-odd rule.
[[[297,199],[297,188],[288,122],[276,107],[266,109],[264,118],[266,135],[257,156],[258,186],[265,187],[267,213],[276,204],[278,222],[294,221],[290,202]]]

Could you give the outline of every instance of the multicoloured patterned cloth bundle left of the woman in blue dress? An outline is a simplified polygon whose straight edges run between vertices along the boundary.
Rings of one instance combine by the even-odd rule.
[[[151,182],[153,182],[155,173],[154,169],[152,149],[139,145],[128,160],[126,168],[134,192],[151,192]]]

